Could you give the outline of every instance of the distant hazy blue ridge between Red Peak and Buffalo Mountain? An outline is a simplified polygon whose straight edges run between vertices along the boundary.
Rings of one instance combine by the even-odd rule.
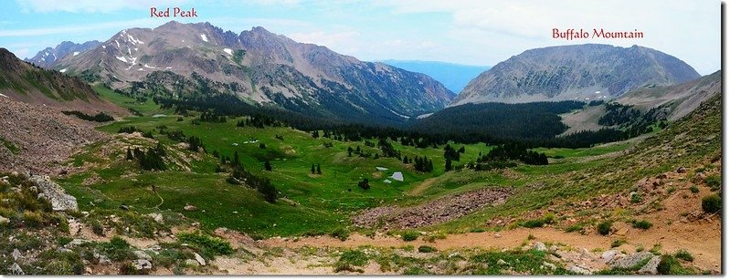
[[[488,66],[472,66],[439,61],[421,60],[383,60],[387,65],[423,73],[438,80],[444,87],[459,93],[471,81],[486,70]]]

